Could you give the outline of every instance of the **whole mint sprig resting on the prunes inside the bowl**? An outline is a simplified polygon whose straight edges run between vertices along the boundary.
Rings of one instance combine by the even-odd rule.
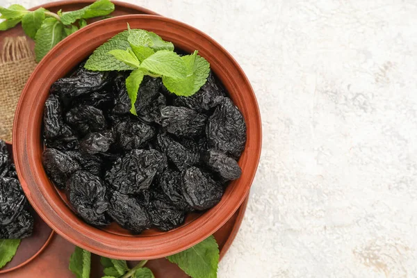
[[[179,56],[174,44],[142,29],[131,29],[115,35],[98,47],[85,63],[87,70],[131,70],[126,90],[131,99],[131,113],[137,115],[135,103],[145,75],[162,77],[170,92],[188,97],[207,81],[210,64],[197,55]]]

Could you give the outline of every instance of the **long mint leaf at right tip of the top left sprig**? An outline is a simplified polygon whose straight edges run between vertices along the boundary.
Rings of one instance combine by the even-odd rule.
[[[111,3],[110,0],[99,0],[81,10],[63,13],[61,22],[65,25],[70,25],[76,22],[77,19],[89,19],[101,15],[108,15],[109,13],[112,13],[113,10],[115,10],[115,5]]]

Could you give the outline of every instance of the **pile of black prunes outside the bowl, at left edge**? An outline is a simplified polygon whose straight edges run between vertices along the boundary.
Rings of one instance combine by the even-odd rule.
[[[27,238],[33,216],[11,163],[6,143],[0,140],[0,239]]]

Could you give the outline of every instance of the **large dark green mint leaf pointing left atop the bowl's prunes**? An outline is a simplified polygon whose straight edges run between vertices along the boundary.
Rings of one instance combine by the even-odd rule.
[[[85,63],[87,70],[95,71],[111,71],[111,70],[133,70],[120,60],[117,60],[113,55],[108,54],[108,51],[114,49],[129,49],[130,45],[127,41],[129,31],[123,31],[115,35],[113,38],[98,47]]]

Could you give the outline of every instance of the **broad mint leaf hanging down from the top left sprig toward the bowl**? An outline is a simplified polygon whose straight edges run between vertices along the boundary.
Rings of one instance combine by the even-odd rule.
[[[35,35],[35,54],[38,62],[63,39],[63,28],[63,24],[54,17],[44,19]]]

